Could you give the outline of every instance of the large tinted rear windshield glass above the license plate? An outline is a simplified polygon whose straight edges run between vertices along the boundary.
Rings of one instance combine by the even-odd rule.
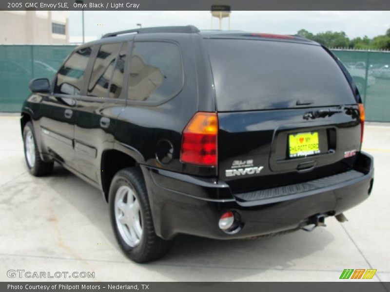
[[[286,109],[296,107],[298,100],[311,102],[311,107],[356,103],[344,74],[320,46],[245,39],[205,42],[219,111]]]

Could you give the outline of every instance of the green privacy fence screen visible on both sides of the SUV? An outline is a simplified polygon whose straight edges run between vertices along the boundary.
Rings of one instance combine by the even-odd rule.
[[[52,79],[74,45],[0,45],[0,111],[19,112],[33,78]],[[355,80],[368,121],[390,122],[390,52],[338,50]],[[331,86],[331,84],[329,85]]]

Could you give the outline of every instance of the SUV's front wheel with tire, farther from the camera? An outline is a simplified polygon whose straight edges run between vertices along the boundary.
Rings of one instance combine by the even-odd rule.
[[[23,128],[24,158],[30,174],[34,176],[49,175],[53,171],[54,162],[44,162],[39,155],[37,139],[31,122]]]

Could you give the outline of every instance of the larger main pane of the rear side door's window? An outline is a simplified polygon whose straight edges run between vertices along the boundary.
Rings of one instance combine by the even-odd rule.
[[[110,80],[114,73],[121,43],[101,45],[88,85],[90,96],[108,97]]]

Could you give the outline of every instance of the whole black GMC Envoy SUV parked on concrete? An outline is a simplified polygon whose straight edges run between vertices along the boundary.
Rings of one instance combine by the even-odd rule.
[[[345,219],[366,200],[364,107],[331,52],[298,36],[156,27],[78,46],[30,83],[30,173],[100,189],[127,256],[177,234],[256,237]]]

